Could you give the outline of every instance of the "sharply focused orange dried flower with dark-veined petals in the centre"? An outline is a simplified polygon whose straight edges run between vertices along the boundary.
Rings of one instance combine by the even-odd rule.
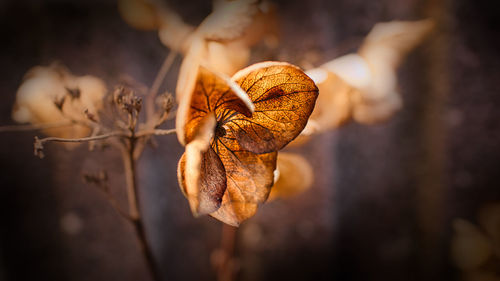
[[[290,64],[255,64],[231,79],[200,67],[176,120],[186,144],[179,182],[193,214],[235,226],[253,216],[273,184],[276,151],[302,131],[316,97]]]

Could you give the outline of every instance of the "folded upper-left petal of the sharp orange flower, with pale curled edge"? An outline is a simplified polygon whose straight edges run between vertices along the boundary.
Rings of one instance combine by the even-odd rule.
[[[215,112],[219,119],[221,114],[228,111],[250,116],[253,104],[247,94],[229,78],[200,66],[193,90],[181,100],[177,111],[176,126],[179,141],[189,143],[193,139],[200,118],[209,112]]]

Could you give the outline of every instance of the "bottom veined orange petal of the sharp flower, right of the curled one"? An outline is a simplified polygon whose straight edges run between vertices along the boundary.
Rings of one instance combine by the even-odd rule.
[[[269,196],[276,169],[276,152],[255,154],[241,150],[234,140],[215,138],[212,144],[220,156],[227,176],[227,189],[221,207],[211,216],[238,226],[257,211]]]

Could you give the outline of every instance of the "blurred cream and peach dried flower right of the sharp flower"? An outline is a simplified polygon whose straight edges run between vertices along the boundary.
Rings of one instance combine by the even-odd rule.
[[[432,28],[431,20],[378,23],[358,53],[307,71],[321,95],[306,130],[337,128],[351,117],[364,124],[391,117],[402,105],[396,69]]]

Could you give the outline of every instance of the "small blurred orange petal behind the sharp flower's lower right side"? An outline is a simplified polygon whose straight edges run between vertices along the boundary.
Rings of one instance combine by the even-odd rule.
[[[269,200],[290,198],[309,189],[314,181],[314,172],[309,162],[299,154],[278,154],[278,180],[269,194]]]

